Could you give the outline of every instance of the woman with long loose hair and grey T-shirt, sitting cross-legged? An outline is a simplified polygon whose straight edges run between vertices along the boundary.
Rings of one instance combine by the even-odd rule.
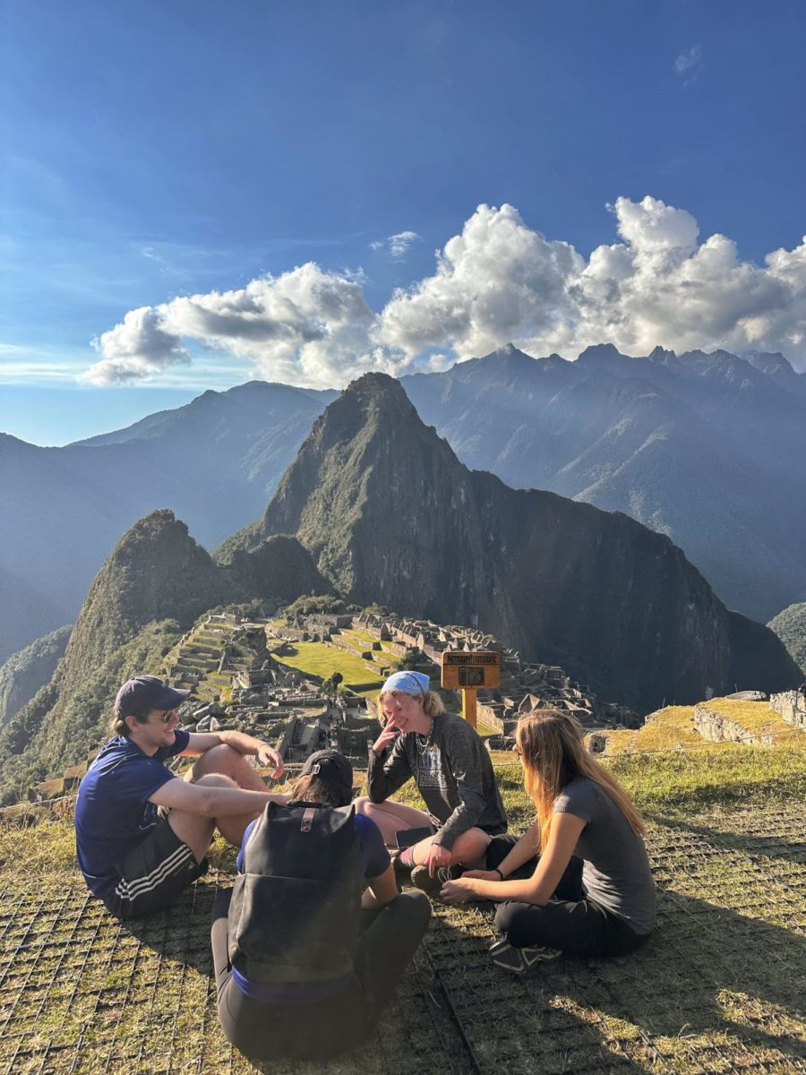
[[[503,940],[491,952],[494,963],[518,974],[562,954],[634,951],[656,920],[641,814],[591,758],[581,729],[566,714],[527,714],[518,722],[515,749],[537,819],[515,844],[499,837],[499,855],[495,847],[488,850],[488,869],[447,882],[443,899],[506,901],[495,915]],[[522,876],[535,852],[534,869]],[[582,860],[576,885],[575,856]],[[508,880],[515,873],[520,879]]]

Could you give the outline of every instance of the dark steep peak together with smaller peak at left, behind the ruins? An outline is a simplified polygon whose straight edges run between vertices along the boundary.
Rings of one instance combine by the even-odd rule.
[[[729,612],[665,534],[469,470],[399,382],[370,373],[315,420],[262,520],[215,559],[172,512],[152,512],[96,576],[63,657],[62,633],[9,662],[30,670],[30,696],[37,662],[58,660],[0,730],[1,793],[80,760],[119,682],[159,671],[203,612],[317,593],[477,626],[642,712],[802,677],[780,640]]]

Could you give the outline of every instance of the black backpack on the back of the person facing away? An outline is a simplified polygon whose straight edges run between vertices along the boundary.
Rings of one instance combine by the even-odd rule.
[[[235,970],[264,983],[349,974],[360,930],[360,857],[355,806],[269,803],[232,890]]]

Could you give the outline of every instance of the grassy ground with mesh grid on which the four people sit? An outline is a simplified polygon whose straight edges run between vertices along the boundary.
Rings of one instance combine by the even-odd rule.
[[[494,758],[514,829],[530,818]],[[649,821],[659,929],[636,956],[526,980],[489,962],[485,905],[437,907],[377,1033],[284,1075],[806,1071],[802,749],[737,746],[609,762]],[[169,914],[124,927],[89,899],[69,818],[0,832],[0,1072],[249,1073],[218,1029],[207,922],[232,854]],[[25,869],[19,863],[25,862]]]

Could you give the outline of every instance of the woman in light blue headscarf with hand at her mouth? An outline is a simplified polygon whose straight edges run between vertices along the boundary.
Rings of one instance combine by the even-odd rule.
[[[492,762],[476,730],[445,712],[423,673],[393,673],[379,702],[386,725],[370,748],[369,796],[356,805],[389,845],[404,842],[405,831],[421,830],[421,838],[395,857],[395,870],[411,870],[412,884],[435,895],[442,879],[458,876],[460,863],[483,864],[491,837],[506,832]],[[428,813],[387,802],[412,777]]]

